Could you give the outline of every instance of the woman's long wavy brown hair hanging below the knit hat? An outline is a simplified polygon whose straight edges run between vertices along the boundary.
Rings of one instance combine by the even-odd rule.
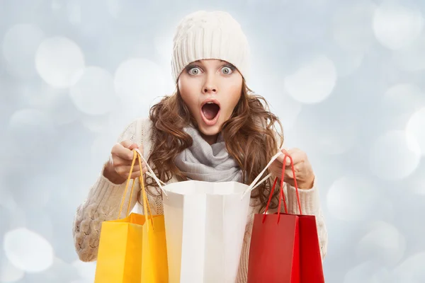
[[[263,103],[261,103],[263,102]],[[168,182],[172,176],[177,180],[187,180],[186,176],[174,164],[174,158],[192,144],[192,137],[183,131],[189,124],[198,124],[181,98],[179,88],[171,96],[162,98],[149,110],[152,121],[152,150],[149,165],[157,177]],[[276,124],[280,132],[276,131]],[[222,125],[222,135],[226,149],[242,168],[242,180],[252,183],[283,144],[283,129],[280,120],[270,112],[268,103],[262,96],[256,95],[242,82],[242,96],[231,117]],[[276,137],[280,137],[279,141]],[[268,174],[266,171],[263,176]],[[147,176],[146,183],[156,187],[154,180]],[[258,198],[261,207],[266,206],[271,188],[270,178],[253,191],[252,197]],[[149,191],[152,195],[157,192]],[[276,200],[278,190],[273,194]],[[271,208],[276,207],[276,201]]]

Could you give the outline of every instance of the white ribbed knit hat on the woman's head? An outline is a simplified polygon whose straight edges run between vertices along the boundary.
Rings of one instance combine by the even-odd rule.
[[[174,34],[171,58],[174,82],[188,64],[201,59],[227,61],[237,67],[246,80],[249,76],[249,53],[248,40],[229,13],[190,13],[179,23]]]

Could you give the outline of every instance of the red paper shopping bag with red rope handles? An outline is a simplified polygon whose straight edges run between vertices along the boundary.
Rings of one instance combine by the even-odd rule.
[[[293,159],[285,155],[278,213],[266,214],[278,180],[276,178],[264,214],[254,215],[249,248],[248,282],[324,283],[316,219],[313,215],[302,215],[296,180],[295,189],[300,215],[288,214],[283,194],[286,156],[290,158],[295,180]],[[285,214],[280,213],[282,199]]]

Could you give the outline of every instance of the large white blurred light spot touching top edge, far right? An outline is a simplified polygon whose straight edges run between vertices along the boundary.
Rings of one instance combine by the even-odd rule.
[[[391,50],[408,46],[416,40],[424,27],[418,8],[384,2],[375,11],[373,31],[378,41]]]

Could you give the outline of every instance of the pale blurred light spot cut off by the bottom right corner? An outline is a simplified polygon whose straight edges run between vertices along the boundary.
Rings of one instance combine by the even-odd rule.
[[[416,253],[394,270],[395,282],[425,282],[425,251]]]

